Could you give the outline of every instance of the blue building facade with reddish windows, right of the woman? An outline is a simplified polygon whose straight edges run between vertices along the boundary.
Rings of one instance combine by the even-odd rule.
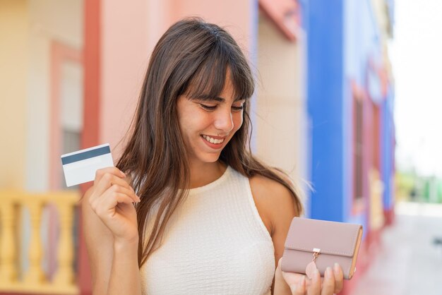
[[[312,218],[363,224],[364,274],[394,216],[393,1],[306,1]]]

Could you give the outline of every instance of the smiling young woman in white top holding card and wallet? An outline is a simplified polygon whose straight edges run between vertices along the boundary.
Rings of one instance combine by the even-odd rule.
[[[342,289],[339,265],[323,280],[275,270],[302,206],[287,176],[251,155],[253,90],[217,25],[181,20],[161,37],[118,168],[97,171],[83,199],[94,294]]]

